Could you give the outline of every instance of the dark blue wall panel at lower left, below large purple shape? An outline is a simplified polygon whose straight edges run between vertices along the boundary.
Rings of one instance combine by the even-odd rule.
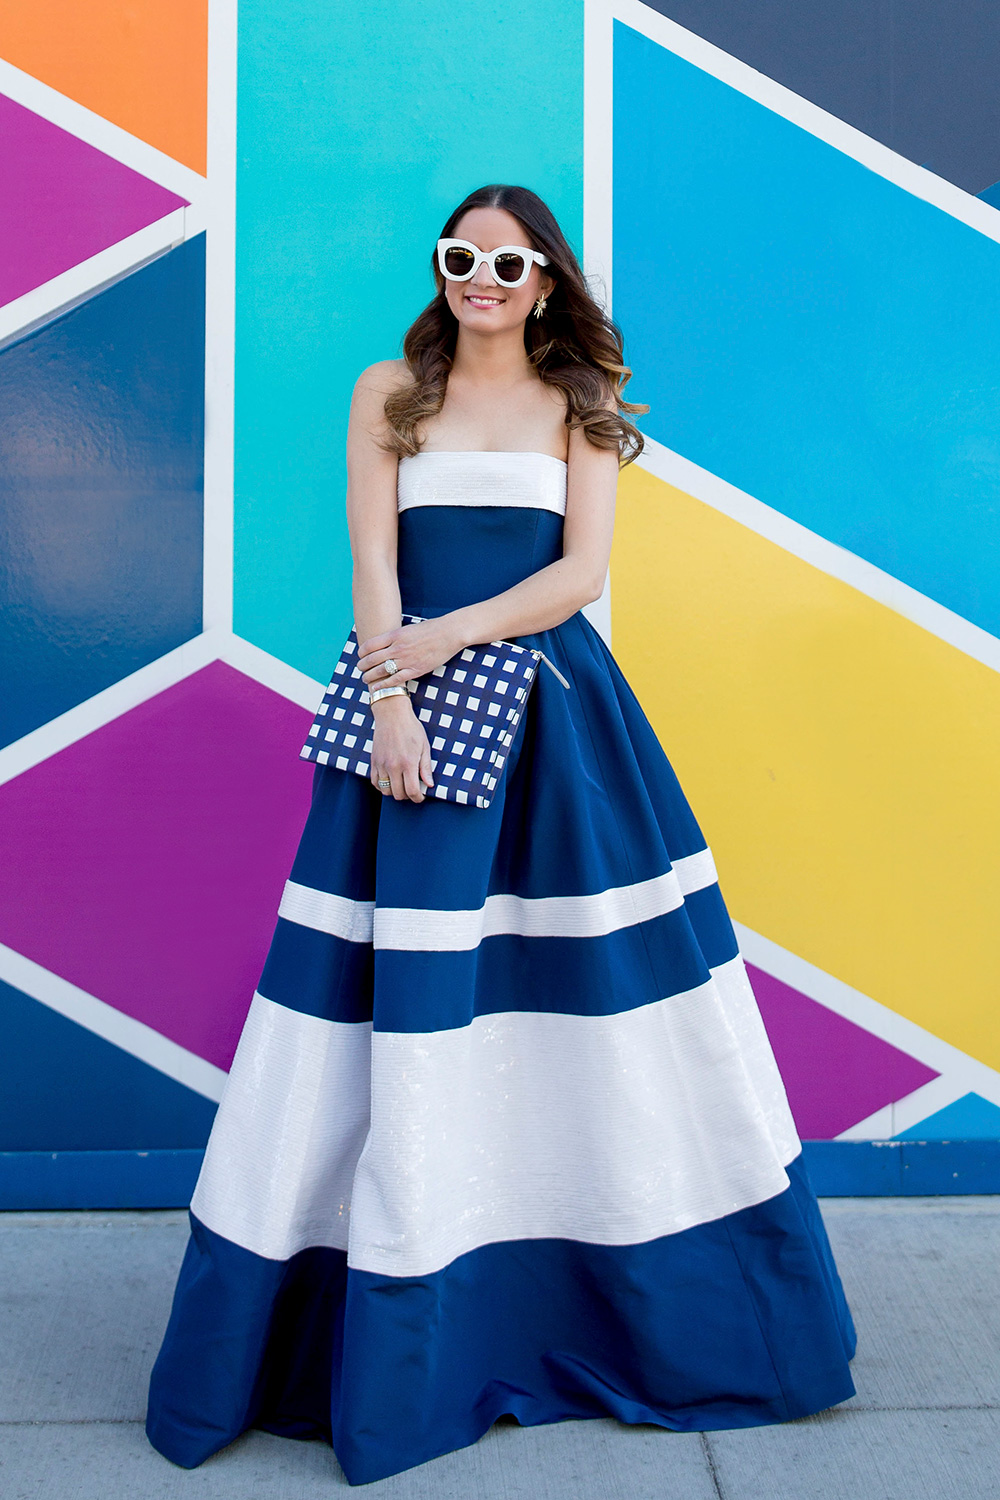
[[[201,1094],[9,984],[0,982],[0,1152],[198,1148],[208,1140],[216,1106]]]

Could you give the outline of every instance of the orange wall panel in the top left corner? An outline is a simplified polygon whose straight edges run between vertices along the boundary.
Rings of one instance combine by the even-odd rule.
[[[0,57],[205,171],[208,0],[0,0]]]

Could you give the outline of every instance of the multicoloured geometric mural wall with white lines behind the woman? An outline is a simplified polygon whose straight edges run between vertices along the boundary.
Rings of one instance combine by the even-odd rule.
[[[0,4],[0,1204],[186,1202],[351,624],[351,388],[496,180],[651,405],[600,618],[799,1132],[1000,1140],[1000,18],[939,12]]]

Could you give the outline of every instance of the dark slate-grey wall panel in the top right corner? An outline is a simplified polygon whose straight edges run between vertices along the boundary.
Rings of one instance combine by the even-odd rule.
[[[1000,176],[996,0],[646,0],[967,192]]]

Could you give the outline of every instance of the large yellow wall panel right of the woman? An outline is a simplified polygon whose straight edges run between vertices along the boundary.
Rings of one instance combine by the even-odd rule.
[[[733,915],[1000,1068],[1000,674],[634,466],[612,632]]]

